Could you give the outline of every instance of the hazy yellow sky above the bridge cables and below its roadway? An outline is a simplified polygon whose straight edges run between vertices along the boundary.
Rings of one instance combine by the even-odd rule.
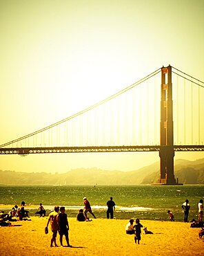
[[[0,145],[171,64],[204,80],[204,1],[0,1]],[[203,153],[176,153],[196,159]],[[0,156],[1,170],[134,170],[158,153]]]

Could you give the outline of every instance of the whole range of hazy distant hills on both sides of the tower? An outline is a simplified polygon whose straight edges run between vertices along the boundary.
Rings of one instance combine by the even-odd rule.
[[[197,161],[178,160],[174,167],[175,178],[180,183],[204,184],[204,158]],[[108,171],[94,168],[74,169],[63,174],[45,172],[14,172],[0,170],[2,185],[125,185],[157,183],[159,162],[130,172]]]

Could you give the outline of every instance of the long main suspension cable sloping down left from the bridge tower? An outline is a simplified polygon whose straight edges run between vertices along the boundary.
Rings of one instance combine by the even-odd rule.
[[[15,139],[15,140],[11,140],[11,141],[8,142],[8,143],[4,143],[4,144],[0,145],[0,147],[6,147],[6,146],[8,146],[8,145],[10,145],[10,144],[12,144],[12,143],[17,143],[17,142],[19,142],[20,140],[24,140],[24,139],[26,139],[26,138],[28,138],[28,137],[34,136],[34,135],[36,135],[36,134],[39,134],[39,133],[41,133],[42,131],[46,131],[46,130],[48,130],[48,129],[51,129],[52,127],[56,127],[57,125],[61,125],[63,122],[66,122],[66,121],[68,121],[68,120],[71,120],[71,119],[73,119],[73,118],[76,118],[76,116],[80,116],[80,115],[82,115],[83,113],[88,112],[88,111],[90,111],[90,110],[92,110],[92,109],[94,109],[94,108],[96,108],[96,107],[99,107],[101,104],[104,104],[105,102],[108,102],[108,101],[112,100],[113,98],[116,98],[117,96],[119,96],[119,95],[125,93],[126,91],[129,91],[130,89],[134,88],[135,86],[138,86],[139,84],[145,82],[146,80],[150,79],[151,77],[154,77],[154,75],[157,75],[157,74],[160,73],[160,72],[161,72],[161,68],[159,68],[159,69],[157,69],[156,71],[150,73],[150,75],[147,75],[147,76],[143,77],[143,79],[141,79],[141,80],[135,82],[134,84],[131,84],[130,86],[126,87],[125,89],[123,89],[123,90],[121,90],[121,91],[119,91],[118,93],[115,93],[115,94],[111,95],[110,97],[106,98],[105,100],[101,100],[100,102],[98,102],[98,103],[96,103],[96,104],[93,104],[91,107],[88,107],[88,108],[84,109],[83,111],[79,111],[78,113],[75,113],[74,115],[69,116],[68,118],[65,118],[65,119],[63,119],[63,120],[60,120],[59,122],[55,122],[55,123],[52,124],[52,125],[49,125],[49,126],[47,126],[47,127],[44,127],[44,128],[42,128],[42,129],[39,129],[38,131],[34,131],[34,132],[32,132],[31,134],[27,134],[26,136],[22,136],[22,137],[20,137],[20,138]]]

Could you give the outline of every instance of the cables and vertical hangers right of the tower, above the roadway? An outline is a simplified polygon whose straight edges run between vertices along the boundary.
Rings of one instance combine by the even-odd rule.
[[[177,68],[174,70],[174,145],[201,145],[204,131],[204,82]]]

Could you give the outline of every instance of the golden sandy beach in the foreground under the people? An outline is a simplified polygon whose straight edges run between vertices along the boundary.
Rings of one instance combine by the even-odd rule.
[[[15,221],[14,226],[1,227],[1,255],[203,255],[204,237],[198,237],[201,228],[190,228],[190,223],[141,221],[154,234],[142,234],[141,244],[135,244],[134,235],[125,234],[129,220],[79,222],[68,218],[73,247],[50,248],[50,227],[47,235],[44,231],[47,221],[48,217],[31,217],[31,221]]]

